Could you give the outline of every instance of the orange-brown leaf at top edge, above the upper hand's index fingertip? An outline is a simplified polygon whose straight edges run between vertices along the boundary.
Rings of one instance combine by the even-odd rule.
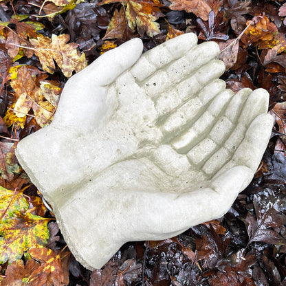
[[[197,17],[208,20],[208,14],[211,11],[210,6],[205,0],[170,0],[170,10],[185,10],[186,12],[194,13]]]

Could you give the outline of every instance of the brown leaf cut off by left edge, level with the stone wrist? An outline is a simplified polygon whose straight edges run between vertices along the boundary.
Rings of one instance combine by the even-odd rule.
[[[20,173],[20,166],[18,164],[15,148],[17,142],[0,142],[0,173],[3,179],[11,181],[14,173]]]

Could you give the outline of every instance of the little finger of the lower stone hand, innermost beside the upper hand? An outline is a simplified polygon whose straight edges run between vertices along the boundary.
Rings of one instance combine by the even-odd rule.
[[[218,94],[199,119],[183,135],[177,136],[171,142],[173,148],[179,153],[188,153],[192,147],[201,142],[212,126],[219,120],[220,114],[228,106],[232,96],[233,92],[230,89],[225,89],[225,91]]]

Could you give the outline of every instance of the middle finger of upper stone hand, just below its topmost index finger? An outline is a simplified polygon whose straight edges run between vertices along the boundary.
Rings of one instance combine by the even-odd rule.
[[[222,66],[222,72],[216,69],[215,65],[210,69],[209,65],[219,54],[219,47],[214,42],[206,42],[196,45],[194,49],[189,50],[184,56],[176,61],[171,62],[162,69],[158,69],[154,74],[139,83],[144,87],[146,94],[153,99],[164,96],[168,89],[174,89],[181,81],[191,78],[197,74],[197,81],[203,80],[206,76],[211,76],[210,70],[214,74],[217,72],[217,78],[225,71]],[[206,65],[206,67],[204,67]],[[201,70],[201,72],[200,72]],[[179,95],[179,92],[177,92]]]

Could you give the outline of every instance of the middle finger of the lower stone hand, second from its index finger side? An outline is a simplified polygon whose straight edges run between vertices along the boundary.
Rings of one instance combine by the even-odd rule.
[[[245,140],[245,133],[252,123],[252,120],[259,116],[261,113],[266,113],[268,98],[269,94],[264,89],[256,89],[255,91],[252,91],[248,97],[248,100],[246,100],[243,106],[237,122],[233,124],[234,129],[231,132],[228,132],[228,139],[225,140],[222,146],[220,145],[219,149],[214,149],[215,152],[212,153],[211,156],[208,156],[208,160],[203,165],[202,170],[206,174],[211,176],[214,175],[223,167],[223,165],[225,165],[226,162],[230,161],[234,152],[236,152],[236,149],[241,145],[241,142]],[[269,136],[271,128],[269,129],[268,124],[265,125],[264,131],[266,135]],[[255,132],[259,132],[259,129]],[[259,145],[254,143],[254,146]],[[259,148],[261,147],[259,146]],[[263,148],[263,151],[265,148]],[[247,151],[245,150],[245,152]],[[254,166],[256,166],[255,164]]]

